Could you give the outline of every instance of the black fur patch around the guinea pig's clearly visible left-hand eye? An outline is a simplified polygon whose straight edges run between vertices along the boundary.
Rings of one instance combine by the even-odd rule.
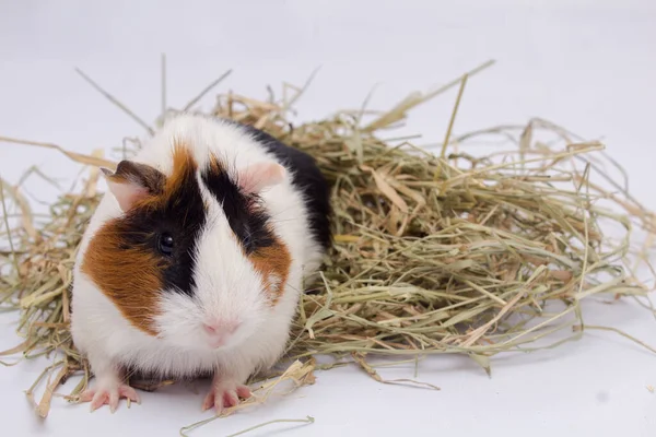
[[[136,209],[124,218],[121,240],[130,247],[152,251],[161,260],[165,290],[191,295],[196,245],[207,221],[200,187],[190,167],[176,187],[167,193],[168,201],[157,208]],[[160,251],[162,235],[173,237],[171,255]]]

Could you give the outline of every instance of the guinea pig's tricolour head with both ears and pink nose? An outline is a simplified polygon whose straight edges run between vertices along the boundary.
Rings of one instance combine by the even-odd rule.
[[[229,172],[184,146],[173,170],[122,161],[104,170],[116,214],[91,238],[81,270],[137,329],[190,349],[253,335],[284,290],[290,252],[259,200],[284,180],[274,162]]]

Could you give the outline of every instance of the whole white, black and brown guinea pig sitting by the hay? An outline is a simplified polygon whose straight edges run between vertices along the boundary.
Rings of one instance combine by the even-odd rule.
[[[73,270],[71,334],[95,376],[81,401],[139,402],[131,369],[210,374],[203,411],[238,404],[283,354],[331,244],[321,172],[258,129],[181,114],[103,174]]]

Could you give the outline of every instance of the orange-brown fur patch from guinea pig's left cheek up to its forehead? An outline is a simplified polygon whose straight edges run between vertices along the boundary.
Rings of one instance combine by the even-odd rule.
[[[137,234],[138,239],[144,241],[154,236],[150,231],[131,229],[130,217],[165,208],[168,202],[180,198],[185,181],[195,174],[197,163],[190,152],[177,142],[172,157],[173,172],[168,177],[136,163],[126,163],[124,172],[117,170],[115,181],[151,185],[151,193],[137,201],[126,215],[108,221],[98,229],[81,265],[82,272],[93,280],[132,326],[153,336],[157,335],[153,322],[164,285],[163,269],[168,261],[153,252],[151,247],[129,241]],[[152,185],[156,185],[157,189],[152,190]]]

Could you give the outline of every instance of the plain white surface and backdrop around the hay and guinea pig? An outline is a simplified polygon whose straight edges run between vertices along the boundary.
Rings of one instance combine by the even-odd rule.
[[[359,107],[387,108],[413,90],[445,83],[489,58],[469,81],[457,132],[539,116],[602,139],[631,174],[633,193],[652,209],[656,7],[653,1],[0,1],[0,134],[91,152],[142,130],[91,90],[78,66],[152,121],[160,108],[159,55],[168,56],[168,103],[180,106],[229,68],[221,91],[265,96],[281,81],[319,75],[297,105],[305,118]],[[482,7],[484,4],[484,7]],[[549,5],[546,5],[549,4]],[[567,5],[565,5],[567,4]],[[455,90],[412,114],[421,142],[442,141]],[[213,103],[203,101],[207,108]],[[10,154],[12,155],[10,157]],[[70,181],[77,170],[56,152],[0,144],[0,174],[16,181],[33,164]],[[68,184],[65,185],[68,187]],[[55,193],[28,185],[39,198]],[[13,346],[15,316],[0,318],[0,350]],[[587,321],[656,344],[654,319],[628,303],[593,305]],[[656,356],[613,334],[493,361],[489,379],[461,357],[422,363],[420,379],[442,391],[384,386],[354,368],[266,406],[190,433],[220,436],[274,420],[312,415],[309,426],[272,425],[253,436],[656,435]],[[202,393],[183,388],[143,395],[115,415],[59,399],[45,422],[22,390],[43,363],[0,368],[2,435],[177,435],[208,417]],[[412,368],[384,369],[411,378]],[[68,387],[67,387],[68,389]],[[286,434],[284,434],[286,433]]]

